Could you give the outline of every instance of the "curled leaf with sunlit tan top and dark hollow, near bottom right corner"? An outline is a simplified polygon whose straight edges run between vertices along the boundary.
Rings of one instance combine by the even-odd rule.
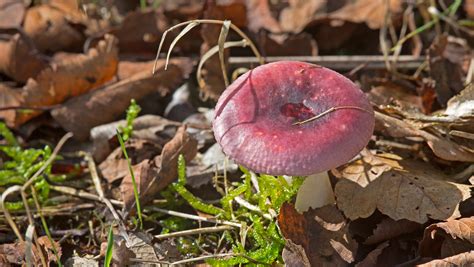
[[[449,257],[474,250],[474,217],[432,224],[420,243],[423,257]]]

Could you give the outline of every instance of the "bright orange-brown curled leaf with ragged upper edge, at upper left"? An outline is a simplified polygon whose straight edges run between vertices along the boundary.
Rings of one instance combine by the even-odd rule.
[[[22,106],[42,107],[60,104],[109,81],[117,71],[117,39],[106,35],[97,48],[78,54],[41,71],[35,80],[23,87]],[[14,126],[39,115],[40,112],[16,112]],[[76,123],[75,121],[73,121]]]

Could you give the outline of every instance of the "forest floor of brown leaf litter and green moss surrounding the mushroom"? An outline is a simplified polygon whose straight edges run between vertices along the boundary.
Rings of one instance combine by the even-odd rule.
[[[109,229],[117,266],[473,264],[472,1],[132,2],[0,1],[1,264],[99,266]],[[337,58],[370,97],[335,204],[298,213],[301,177],[215,144],[215,100],[260,55]]]

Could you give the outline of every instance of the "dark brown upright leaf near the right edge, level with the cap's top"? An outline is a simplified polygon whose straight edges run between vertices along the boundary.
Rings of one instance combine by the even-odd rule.
[[[437,37],[428,49],[430,76],[436,82],[437,99],[443,107],[452,96],[464,88],[462,83],[464,57],[470,57],[470,51],[450,41],[446,35]]]

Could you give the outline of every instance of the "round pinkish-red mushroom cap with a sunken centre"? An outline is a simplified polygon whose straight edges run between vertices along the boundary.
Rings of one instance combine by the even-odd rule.
[[[372,107],[354,83],[295,61],[239,77],[219,98],[213,122],[225,154],[271,175],[310,175],[342,165],[367,145],[373,128]]]

